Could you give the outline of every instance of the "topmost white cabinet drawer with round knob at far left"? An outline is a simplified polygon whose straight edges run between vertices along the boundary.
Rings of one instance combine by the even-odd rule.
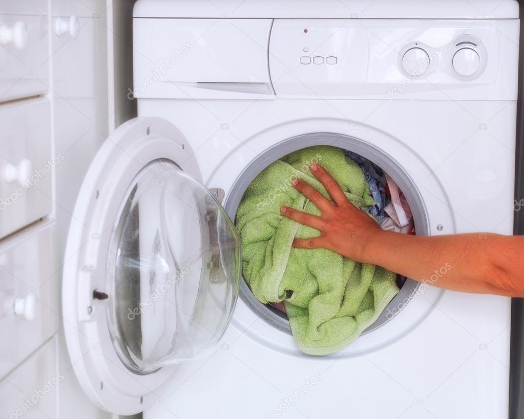
[[[49,33],[46,15],[0,14],[0,101],[46,93]]]

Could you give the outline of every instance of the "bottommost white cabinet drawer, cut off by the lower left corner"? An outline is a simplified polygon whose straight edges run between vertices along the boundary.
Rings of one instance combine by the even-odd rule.
[[[0,381],[0,417],[58,417],[57,388],[63,380],[57,368],[57,342],[53,338]]]

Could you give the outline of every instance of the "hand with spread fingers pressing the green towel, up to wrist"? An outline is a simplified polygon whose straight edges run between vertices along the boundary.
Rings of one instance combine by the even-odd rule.
[[[293,246],[308,249],[323,247],[358,262],[372,263],[372,255],[366,253],[366,245],[382,232],[379,225],[346,198],[339,184],[322,167],[312,164],[310,169],[324,185],[333,203],[303,180],[292,181],[293,187],[322,212],[322,216],[318,217],[286,206],[280,208],[283,216],[320,231],[318,237],[294,239]]]

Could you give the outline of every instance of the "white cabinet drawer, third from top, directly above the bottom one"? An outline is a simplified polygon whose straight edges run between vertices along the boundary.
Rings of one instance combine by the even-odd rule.
[[[42,223],[0,242],[0,377],[58,331],[55,235]]]

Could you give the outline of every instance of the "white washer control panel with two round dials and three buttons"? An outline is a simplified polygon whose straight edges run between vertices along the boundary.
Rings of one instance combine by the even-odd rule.
[[[272,86],[278,97],[514,96],[517,63],[498,60],[514,60],[518,29],[507,20],[275,19]]]

